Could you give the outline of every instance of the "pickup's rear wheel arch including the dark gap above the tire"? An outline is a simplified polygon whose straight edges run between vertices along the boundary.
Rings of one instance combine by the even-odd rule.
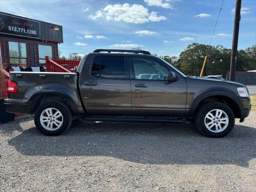
[[[64,102],[70,108],[73,115],[79,115],[78,108],[74,100],[68,94],[60,92],[59,90],[43,90],[41,92],[37,92],[30,98],[27,105],[27,110],[30,112],[30,114],[34,114],[36,108],[40,104],[48,101]]]

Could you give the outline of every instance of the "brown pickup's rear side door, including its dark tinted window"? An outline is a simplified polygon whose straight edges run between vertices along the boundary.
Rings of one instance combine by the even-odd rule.
[[[129,64],[125,56],[91,54],[80,79],[82,96],[90,114],[131,114]]]

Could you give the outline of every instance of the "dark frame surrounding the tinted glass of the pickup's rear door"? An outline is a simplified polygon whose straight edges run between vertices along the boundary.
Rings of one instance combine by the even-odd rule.
[[[127,79],[130,79],[130,71],[129,71],[129,63],[127,62],[127,57],[126,56],[122,56],[124,58],[124,78],[104,78],[101,76],[101,70],[100,70],[100,77],[96,77],[92,74],[92,66],[93,66],[93,62],[94,62],[94,59],[99,56],[100,57],[100,69],[101,69],[101,56],[122,56],[122,55],[95,55],[93,58],[92,58],[92,63],[91,63],[91,66],[90,66],[90,76],[93,77],[93,78],[96,78],[96,79],[119,79],[119,80],[127,80]]]

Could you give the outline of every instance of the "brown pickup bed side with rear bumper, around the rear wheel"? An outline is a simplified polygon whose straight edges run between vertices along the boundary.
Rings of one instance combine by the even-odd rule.
[[[10,72],[10,80],[16,82],[18,91],[8,94],[5,100],[5,108],[8,112],[31,113],[30,107],[33,101],[42,97],[44,92],[53,95],[59,93],[74,100],[77,107],[82,108],[78,90],[76,73],[56,72]],[[8,107],[8,103],[15,100],[16,107]],[[28,103],[30,102],[30,103]]]

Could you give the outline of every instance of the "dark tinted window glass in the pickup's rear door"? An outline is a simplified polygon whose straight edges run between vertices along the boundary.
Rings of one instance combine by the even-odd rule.
[[[96,56],[91,73],[98,78],[125,78],[124,56]]]

